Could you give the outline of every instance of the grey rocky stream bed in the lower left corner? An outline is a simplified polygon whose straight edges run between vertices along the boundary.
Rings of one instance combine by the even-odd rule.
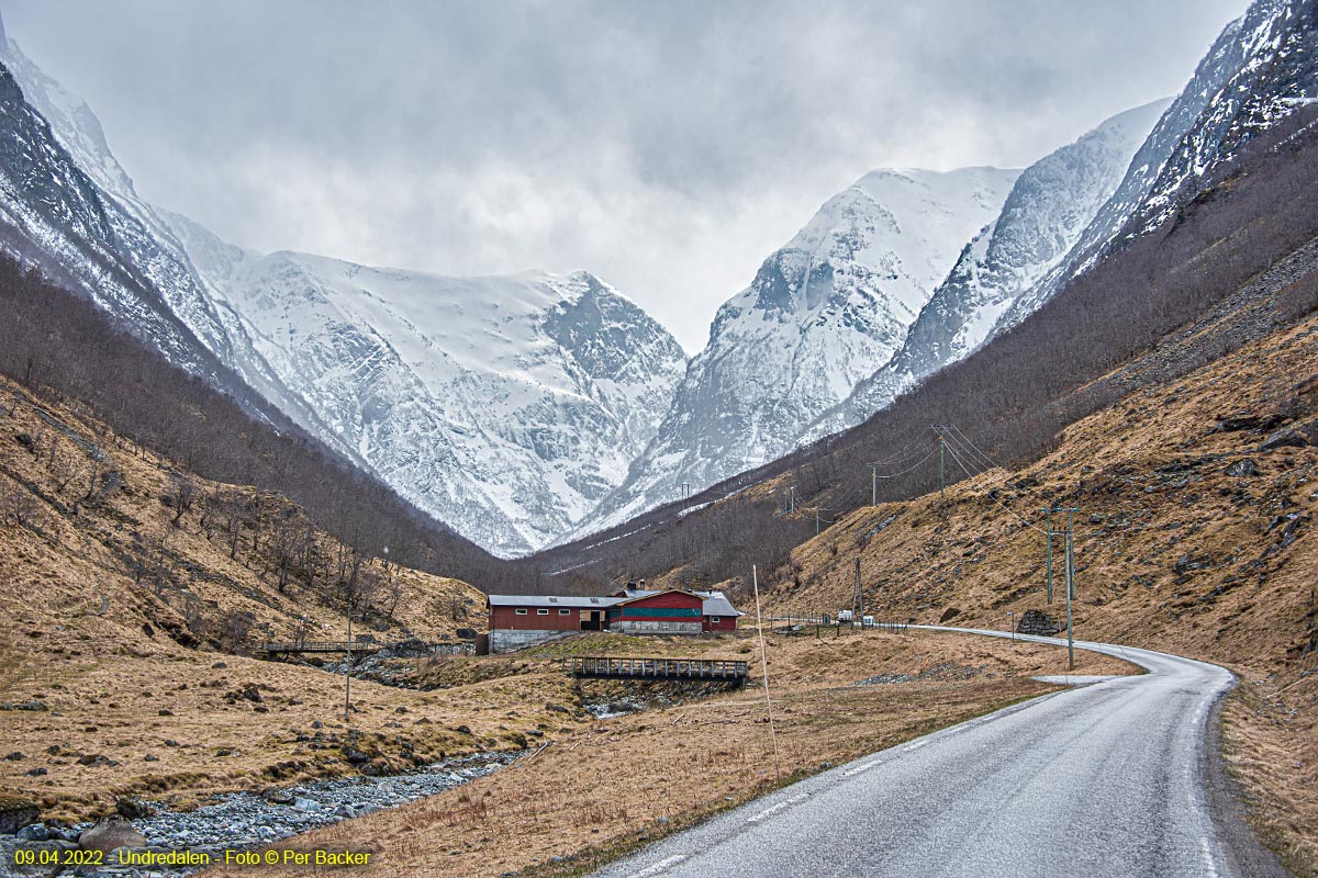
[[[448,760],[420,771],[384,778],[351,777],[318,781],[264,791],[261,795],[233,792],[216,795],[212,804],[192,811],[171,811],[157,802],[134,802],[142,816],[130,820],[133,829],[146,840],[153,852],[190,850],[219,854],[225,850],[257,848],[265,844],[347,820],[372,811],[391,808],[474,778],[493,774],[521,757],[514,753],[478,753]],[[14,852],[21,848],[70,850],[79,836],[92,827],[83,823],[71,828],[33,824],[16,836],[0,836],[0,875],[91,875],[115,878],[173,878],[192,869],[178,867],[24,867],[18,869]]]

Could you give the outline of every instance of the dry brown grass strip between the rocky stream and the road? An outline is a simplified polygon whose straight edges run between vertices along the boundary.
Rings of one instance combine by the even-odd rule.
[[[588,638],[585,646],[602,640]],[[685,641],[688,654],[754,642]],[[643,645],[654,654],[680,641]],[[1056,648],[958,634],[771,636],[767,650],[784,779],[1049,691],[1029,677],[1065,667]],[[754,658],[759,661],[758,646]],[[929,673],[919,682],[851,684],[921,670]],[[1102,657],[1086,667],[1130,670]],[[575,873],[772,788],[764,717],[760,692],[750,687],[594,723],[489,778],[295,844],[377,852],[368,870],[373,875],[500,875],[529,867]],[[552,857],[565,861],[551,864]]]

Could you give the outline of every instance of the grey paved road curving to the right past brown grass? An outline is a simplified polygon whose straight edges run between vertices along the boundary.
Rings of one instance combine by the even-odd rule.
[[[1246,874],[1205,787],[1205,735],[1231,674],[1128,646],[1077,646],[1148,674],[1045,695],[830,769],[596,874]]]

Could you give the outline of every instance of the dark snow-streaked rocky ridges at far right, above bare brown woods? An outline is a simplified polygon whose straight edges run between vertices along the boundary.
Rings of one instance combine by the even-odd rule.
[[[845,403],[826,412],[808,438],[861,423],[927,375],[1015,326],[1114,249],[1161,225],[1198,195],[1199,183],[1228,162],[1246,140],[1318,100],[1315,20],[1318,4],[1313,0],[1257,0],[1230,22],[1078,234],[1072,221],[1083,215],[1081,208],[1094,204],[1093,196],[1102,187],[1091,187],[1087,195],[1065,187],[1057,192],[1057,205],[1074,208],[1072,221],[1049,216],[1046,200],[1021,205],[1014,192],[1003,216],[967,245],[957,269],[911,328],[903,349],[859,382]],[[1104,141],[1112,147],[1107,158],[1118,158],[1128,146],[1126,137],[1144,125],[1153,107],[1116,116],[1053,153],[1021,175],[1017,191],[1031,186],[1036,168],[1065,168],[1086,154],[1110,171],[1115,165],[1102,162]],[[1123,130],[1104,132],[1114,124]],[[1101,151],[1093,151],[1095,146]],[[1110,182],[1101,178],[1089,182]],[[1041,251],[1049,258],[1012,278],[1010,267],[1006,272],[1002,269],[1019,253],[998,250],[995,263],[994,242],[1004,226],[1019,226],[1021,220],[1027,226],[1033,224],[1039,234],[1054,233],[1057,244],[1065,242],[1065,253],[1056,258],[1056,249]],[[999,283],[1003,276],[1008,283]]]

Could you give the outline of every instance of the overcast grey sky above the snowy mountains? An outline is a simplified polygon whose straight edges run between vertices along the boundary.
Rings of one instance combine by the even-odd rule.
[[[588,269],[688,351],[884,166],[1023,167],[1180,92],[1246,0],[3,0],[137,190],[221,237]]]

